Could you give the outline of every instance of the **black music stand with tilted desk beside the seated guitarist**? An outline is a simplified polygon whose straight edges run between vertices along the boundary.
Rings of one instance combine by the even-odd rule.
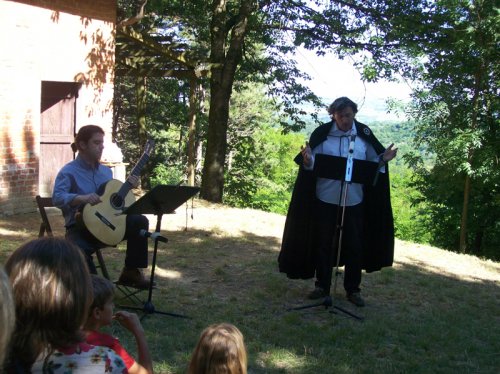
[[[151,235],[151,238],[154,240],[154,251],[153,251],[153,261],[151,264],[151,279],[149,282],[148,300],[144,303],[143,308],[127,307],[129,309],[142,310],[144,312],[143,317],[146,316],[147,314],[158,313],[180,318],[189,318],[181,314],[161,312],[155,310],[155,307],[152,302],[153,281],[155,276],[158,241],[160,238],[162,238],[159,234],[161,230],[161,220],[163,214],[175,213],[175,209],[177,209],[191,197],[196,195],[199,190],[200,190],[199,187],[192,187],[192,186],[158,185],[123,211],[124,214],[156,215],[156,230],[153,233],[153,235]],[[165,239],[165,242],[166,241],[167,240]]]

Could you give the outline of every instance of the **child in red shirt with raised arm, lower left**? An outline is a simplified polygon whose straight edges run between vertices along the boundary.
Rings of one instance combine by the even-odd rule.
[[[109,280],[92,275],[92,287],[94,289],[94,301],[84,326],[87,343],[109,347],[114,350],[123,359],[128,372],[131,374],[152,374],[153,362],[144,329],[137,314],[125,311],[118,311],[113,314],[115,286]],[[113,319],[116,319],[134,335],[139,355],[138,362],[128,354],[117,338],[99,331],[102,327],[111,325]]]

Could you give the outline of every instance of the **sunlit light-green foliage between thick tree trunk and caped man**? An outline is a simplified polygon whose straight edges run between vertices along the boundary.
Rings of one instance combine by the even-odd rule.
[[[224,202],[286,213],[304,137],[282,134],[262,84],[236,85],[231,98]]]

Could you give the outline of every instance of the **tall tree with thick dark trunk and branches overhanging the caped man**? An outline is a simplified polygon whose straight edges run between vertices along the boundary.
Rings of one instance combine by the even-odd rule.
[[[297,46],[319,54],[333,51],[340,57],[361,54],[365,79],[391,77],[394,69],[405,66],[401,63],[405,46],[428,37],[423,31],[435,21],[428,11],[433,5],[430,0],[377,0],[370,6],[361,0],[153,0],[148,4],[149,15],[141,23],[154,26],[144,28],[148,33],[162,35],[162,47],[168,47],[164,57],[195,71],[200,65],[210,71],[201,196],[222,200],[229,103],[236,81],[268,84],[269,94],[289,116],[282,123],[285,131],[300,129],[304,126],[300,105],[321,103],[298,83],[306,77],[290,58]]]

